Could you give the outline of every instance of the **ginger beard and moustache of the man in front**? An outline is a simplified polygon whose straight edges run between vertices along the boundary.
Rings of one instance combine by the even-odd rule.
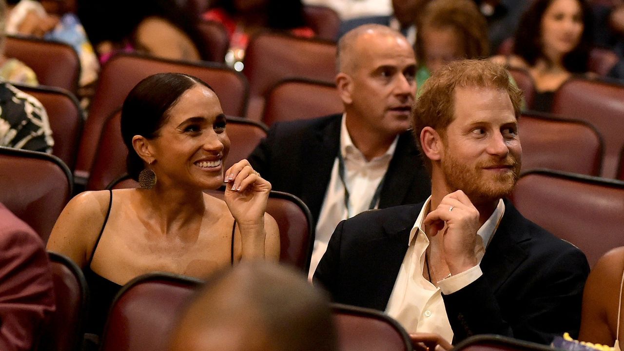
[[[446,141],[444,142],[446,145]],[[516,159],[511,153],[504,159],[490,156],[489,159],[478,161],[475,165],[466,164],[457,159],[448,147],[444,148],[441,160],[442,172],[449,192],[462,190],[472,204],[485,204],[511,194],[520,177],[520,157]],[[496,165],[512,165],[510,172],[495,174],[483,168]],[[491,174],[487,174],[491,173]]]

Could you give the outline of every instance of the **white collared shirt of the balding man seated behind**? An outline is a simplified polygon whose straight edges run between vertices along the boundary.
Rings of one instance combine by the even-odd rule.
[[[344,205],[344,185],[340,179],[338,157],[336,157],[334,166],[331,169],[331,177],[325,192],[323,205],[321,205],[321,212],[319,212],[318,222],[316,223],[316,238],[310,262],[310,272],[308,273],[308,279],[310,280],[316,270],[316,266],[318,266],[318,262],[320,262],[321,257],[327,250],[329,238],[331,238],[331,234],[336,229],[336,225],[343,219],[348,219],[360,212],[369,210],[374,192],[386,171],[388,171],[388,166],[399,139],[398,136],[394,139],[386,153],[371,159],[371,161],[366,161],[366,157],[351,141],[345,120],[346,114],[343,114],[340,126],[339,152],[344,159],[344,182],[349,190],[349,211]],[[377,208],[378,205],[379,200],[374,204],[374,208]]]

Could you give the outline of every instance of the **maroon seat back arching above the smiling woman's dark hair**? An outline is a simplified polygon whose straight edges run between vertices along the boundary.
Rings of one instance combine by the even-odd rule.
[[[124,103],[130,90],[145,77],[161,72],[180,72],[198,77],[215,89],[223,112],[243,116],[248,97],[245,77],[221,64],[195,64],[154,57],[117,54],[100,72],[100,81],[84,126],[76,163],[76,175],[87,178],[92,167],[97,142],[106,119]]]

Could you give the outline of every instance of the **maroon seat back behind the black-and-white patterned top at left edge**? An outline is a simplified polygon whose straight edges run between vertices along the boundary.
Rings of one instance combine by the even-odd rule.
[[[56,87],[31,87],[21,84],[14,86],[32,95],[46,108],[54,138],[52,155],[59,157],[73,170],[84,124],[84,112],[74,94]]]

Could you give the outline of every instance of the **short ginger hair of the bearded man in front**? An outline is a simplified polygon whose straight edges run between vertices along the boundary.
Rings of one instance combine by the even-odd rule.
[[[511,84],[509,72],[504,66],[486,60],[451,62],[427,79],[421,87],[421,96],[418,97],[412,109],[412,132],[429,174],[431,174],[431,160],[422,152],[421,132],[424,127],[431,127],[442,138],[446,137],[446,127],[455,118],[456,87],[504,91],[509,95],[514,106],[515,118],[520,117],[522,91]]]

